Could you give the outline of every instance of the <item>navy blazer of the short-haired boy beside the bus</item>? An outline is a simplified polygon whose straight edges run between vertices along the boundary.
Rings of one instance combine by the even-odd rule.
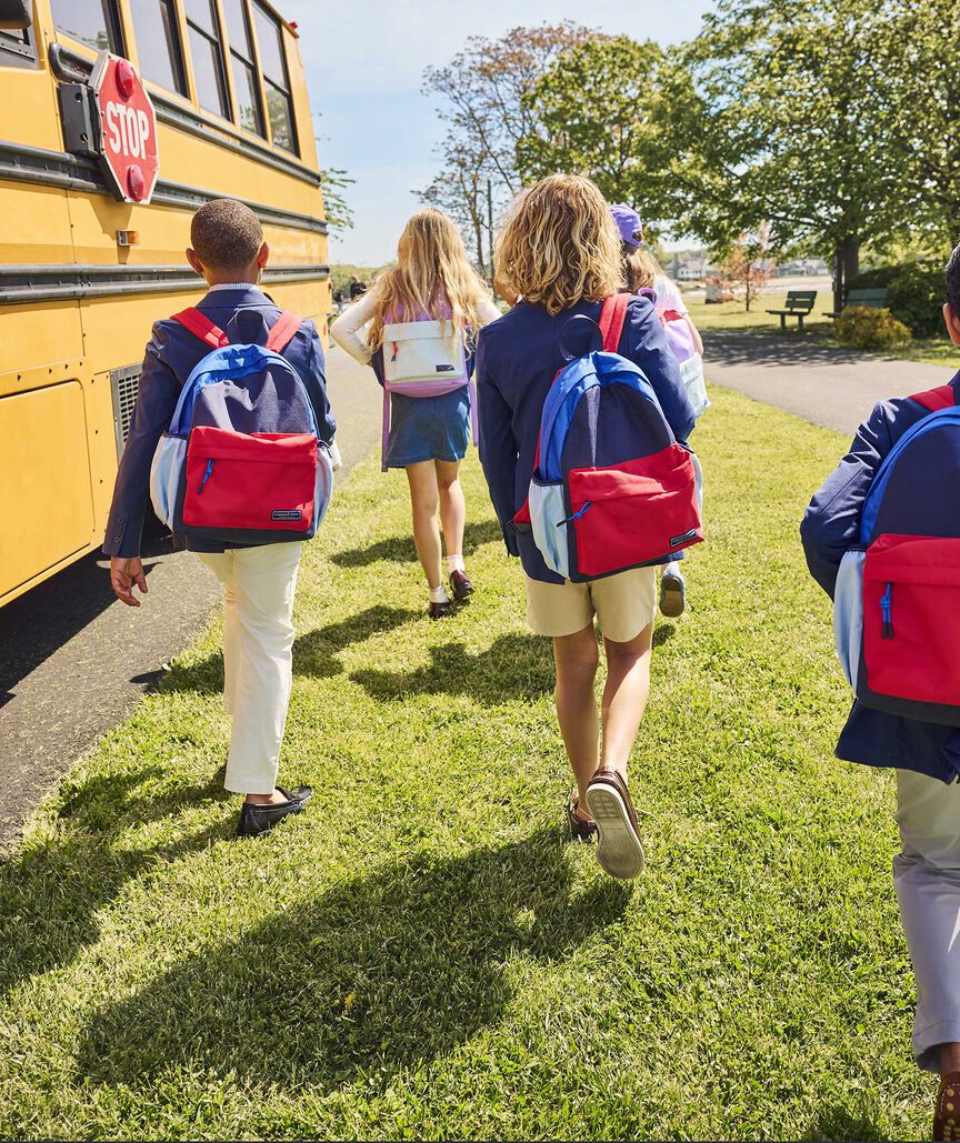
[[[207,294],[198,309],[231,342],[263,345],[280,307],[256,286],[218,289]],[[160,437],[170,424],[177,398],[193,367],[210,346],[177,321],[166,319],[153,327],[141,373],[139,391],[130,434],[113,487],[113,503],[103,550],[106,555],[139,555],[143,520],[150,503],[150,466]],[[312,321],[304,321],[283,350],[283,357],[303,378],[317,415],[320,439],[334,439],[336,421],[327,399],[323,345]],[[222,552],[225,544],[190,537],[192,551]]]

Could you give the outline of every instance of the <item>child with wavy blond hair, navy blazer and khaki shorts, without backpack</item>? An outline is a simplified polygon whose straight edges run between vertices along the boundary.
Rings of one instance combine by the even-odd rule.
[[[527,621],[553,640],[557,714],[576,778],[567,804],[570,832],[584,841],[597,837],[599,816],[598,860],[611,876],[631,878],[643,849],[626,767],[649,692],[655,569],[574,583],[551,572],[533,534],[513,522],[527,499],[544,401],[565,365],[561,344],[583,318],[597,322],[601,303],[623,288],[619,251],[607,203],[590,179],[552,175],[525,194],[496,254],[498,280],[521,299],[481,331],[477,382],[480,459],[507,551],[523,563]],[[685,441],[693,409],[648,298],[630,299],[618,352],[641,367],[674,437]],[[599,716],[594,618],[607,655]]]

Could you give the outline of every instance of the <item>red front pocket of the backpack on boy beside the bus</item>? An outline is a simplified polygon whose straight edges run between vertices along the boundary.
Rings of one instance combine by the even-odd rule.
[[[312,433],[248,434],[198,425],[186,448],[183,522],[309,531],[317,464]]]

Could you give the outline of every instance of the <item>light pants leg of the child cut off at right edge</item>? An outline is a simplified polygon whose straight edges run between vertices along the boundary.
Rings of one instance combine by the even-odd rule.
[[[897,770],[903,852],[894,885],[917,976],[913,1054],[939,1071],[941,1044],[960,1044],[960,784]]]

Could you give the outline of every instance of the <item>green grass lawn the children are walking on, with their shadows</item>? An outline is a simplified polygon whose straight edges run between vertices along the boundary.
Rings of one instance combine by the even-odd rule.
[[[713,395],[709,542],[632,761],[642,878],[565,844],[550,648],[475,462],[480,592],[442,624],[369,463],[302,573],[281,781],[311,813],[233,839],[215,628],[0,868],[0,1136],[921,1137],[891,781],[831,758],[797,538],[845,446]]]

